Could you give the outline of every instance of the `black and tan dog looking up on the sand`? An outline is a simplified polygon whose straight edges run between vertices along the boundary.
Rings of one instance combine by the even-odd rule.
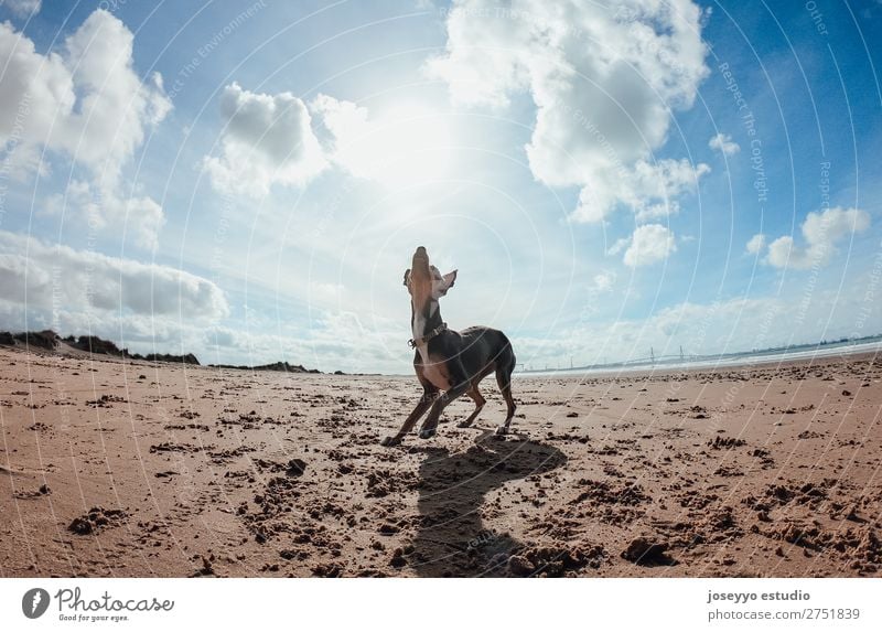
[[[384,446],[400,443],[427,410],[429,416],[420,428],[420,438],[429,439],[435,433],[444,407],[463,394],[475,403],[474,411],[460,424],[461,428],[470,426],[485,404],[477,385],[494,371],[496,383],[508,405],[505,421],[496,432],[508,432],[515,416],[515,400],[512,398],[515,353],[512,343],[503,332],[488,326],[471,326],[462,331],[448,329],[441,320],[438,301],[448,293],[455,280],[456,270],[441,276],[438,268],[429,264],[426,248],[417,248],[411,268],[405,271],[405,286],[410,292],[410,323],[413,330],[410,345],[416,349],[413,369],[423,392],[401,429],[394,437],[386,437]]]

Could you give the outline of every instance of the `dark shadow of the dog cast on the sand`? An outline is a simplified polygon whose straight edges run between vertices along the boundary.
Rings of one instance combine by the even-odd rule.
[[[421,577],[505,575],[508,557],[523,544],[504,526],[484,525],[486,494],[508,481],[559,468],[566,456],[542,443],[490,432],[464,452],[421,451],[426,458],[420,465],[420,528],[409,551],[410,567]],[[514,510],[512,514],[501,514],[494,523],[517,521]]]

